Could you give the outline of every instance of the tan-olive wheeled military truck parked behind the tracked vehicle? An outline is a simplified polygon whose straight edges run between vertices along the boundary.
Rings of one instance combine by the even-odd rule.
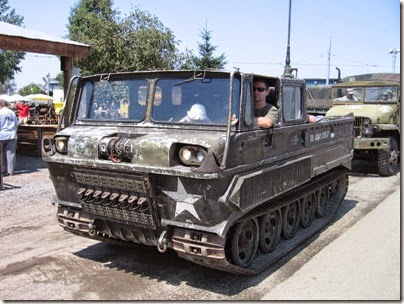
[[[372,76],[370,80],[350,77],[353,81],[334,85],[326,116],[353,113],[354,157],[368,159],[377,164],[381,176],[390,176],[397,171],[400,153],[400,81]],[[348,91],[353,92],[351,99],[345,97]]]

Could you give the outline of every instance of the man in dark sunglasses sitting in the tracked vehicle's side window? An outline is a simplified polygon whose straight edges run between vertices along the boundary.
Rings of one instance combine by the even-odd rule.
[[[254,80],[254,124],[266,129],[278,122],[278,109],[266,102],[269,93],[267,81],[264,79]]]

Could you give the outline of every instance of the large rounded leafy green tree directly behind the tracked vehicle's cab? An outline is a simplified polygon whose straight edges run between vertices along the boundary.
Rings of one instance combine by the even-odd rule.
[[[71,10],[68,28],[70,39],[91,45],[87,58],[75,60],[82,75],[178,65],[172,32],[137,8],[121,19],[112,0],[80,0]]]

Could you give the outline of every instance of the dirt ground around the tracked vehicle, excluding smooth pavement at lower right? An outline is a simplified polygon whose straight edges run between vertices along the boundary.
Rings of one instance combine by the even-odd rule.
[[[335,223],[263,273],[244,277],[170,250],[163,255],[154,247],[119,247],[64,232],[46,163],[18,154],[16,174],[4,178],[0,191],[0,299],[259,300],[400,187],[400,173],[358,172]]]

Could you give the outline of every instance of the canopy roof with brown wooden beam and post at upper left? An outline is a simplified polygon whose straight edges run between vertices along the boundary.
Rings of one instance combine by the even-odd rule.
[[[73,58],[87,57],[90,46],[0,21],[0,49],[59,55],[66,94]]]

